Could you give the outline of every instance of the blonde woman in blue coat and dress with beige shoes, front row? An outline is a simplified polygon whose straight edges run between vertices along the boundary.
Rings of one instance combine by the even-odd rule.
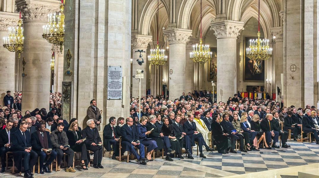
[[[137,124],[137,131],[139,134],[139,141],[147,147],[147,153],[146,153],[146,158],[148,161],[153,161],[152,160],[152,153],[155,148],[157,148],[157,144],[155,140],[152,140],[150,138],[147,138],[147,135],[150,134],[152,131],[147,131],[146,130],[146,123],[147,123],[148,118],[146,116],[143,116],[140,119],[140,123]]]

